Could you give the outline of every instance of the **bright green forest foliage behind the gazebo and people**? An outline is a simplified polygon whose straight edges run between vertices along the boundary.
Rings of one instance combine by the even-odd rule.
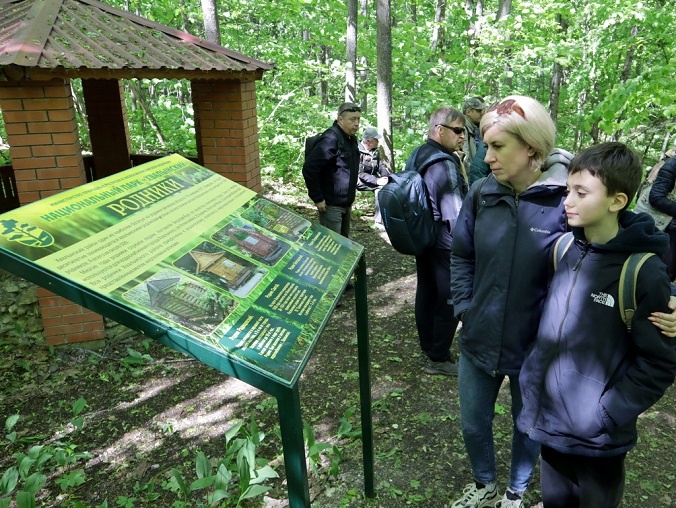
[[[529,95],[554,117],[557,145],[577,152],[626,142],[652,165],[673,144],[676,62],[666,0],[105,0],[206,37],[203,5],[215,2],[222,46],[272,62],[257,83],[261,164],[295,179],[304,139],[327,128],[346,97],[348,9],[358,6],[355,100],[362,128],[377,125],[377,4],[391,2],[391,124],[397,168],[436,107],[471,96]],[[73,83],[76,102],[81,86]],[[125,83],[135,152],[193,155],[187,82]],[[81,111],[83,148],[86,113]],[[151,113],[148,113],[150,111]],[[3,134],[4,132],[0,133]],[[400,168],[399,168],[400,169]]]

